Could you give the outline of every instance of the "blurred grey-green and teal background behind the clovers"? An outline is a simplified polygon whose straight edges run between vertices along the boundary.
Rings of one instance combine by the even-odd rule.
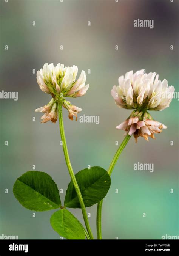
[[[75,173],[88,165],[107,169],[117,150],[115,142],[123,140],[123,131],[115,126],[130,114],[130,110],[117,108],[110,94],[118,77],[130,70],[146,69],[179,90],[177,12],[178,2],[169,0],[1,1],[0,91],[18,91],[19,99],[0,99],[0,235],[60,238],[49,222],[55,210],[37,212],[33,218],[12,193],[16,178],[32,170],[32,165],[50,174],[59,189],[63,188],[62,201],[70,181],[58,123],[41,124],[41,115],[34,111],[51,97],[39,89],[32,70],[37,72],[46,62],[75,64],[79,72],[91,70],[86,95],[71,102],[83,109],[80,115],[99,115],[100,124],[72,122],[64,110],[65,132]],[[154,28],[133,27],[138,18],[153,19]],[[131,138],[120,156],[103,203],[103,239],[179,235],[178,104],[178,99],[173,99],[170,108],[150,112],[167,125],[167,130],[149,142],[139,138],[135,143]],[[134,171],[137,162],[154,163],[154,172]],[[80,209],[72,212],[83,223]],[[87,212],[91,213],[89,221],[96,237],[96,206]]]

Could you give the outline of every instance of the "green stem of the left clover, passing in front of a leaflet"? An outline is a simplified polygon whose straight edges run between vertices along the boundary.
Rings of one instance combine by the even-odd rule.
[[[58,103],[58,111],[59,111],[59,126],[60,126],[60,134],[61,134],[61,138],[62,138],[62,142],[63,142],[63,152],[65,155],[65,161],[66,161],[66,165],[68,167],[68,171],[69,171],[69,175],[71,177],[71,180],[73,182],[74,188],[76,190],[79,202],[80,202],[80,206],[82,209],[82,214],[83,214],[83,219],[85,221],[85,225],[86,225],[86,229],[88,231],[89,237],[90,239],[94,239],[93,238],[93,234],[91,232],[91,228],[89,226],[89,221],[88,221],[88,216],[86,214],[86,209],[85,209],[85,204],[83,202],[83,198],[82,198],[82,194],[80,192],[80,188],[79,185],[76,181],[76,177],[74,175],[72,166],[71,166],[71,162],[69,159],[69,154],[68,154],[68,148],[67,148],[67,144],[66,144],[66,138],[65,138],[65,130],[64,130],[64,125],[63,125],[63,113],[62,113],[62,102]]]

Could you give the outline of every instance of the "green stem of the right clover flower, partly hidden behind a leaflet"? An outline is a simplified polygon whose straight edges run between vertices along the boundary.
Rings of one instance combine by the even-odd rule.
[[[124,140],[122,141],[120,147],[117,149],[116,154],[114,155],[113,160],[111,161],[111,164],[110,164],[109,169],[108,169],[109,175],[111,175],[111,173],[112,173],[112,171],[114,169],[114,166],[116,165],[116,162],[117,162],[120,154],[122,153],[123,149],[127,145],[130,137],[131,136],[127,134],[126,137],[124,138]],[[97,218],[96,218],[97,239],[102,239],[102,231],[101,231],[102,204],[103,204],[103,200],[100,201],[97,204]]]

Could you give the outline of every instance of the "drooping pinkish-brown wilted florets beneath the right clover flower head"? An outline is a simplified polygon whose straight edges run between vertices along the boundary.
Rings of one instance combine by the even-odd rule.
[[[155,139],[154,134],[162,132],[162,129],[166,129],[167,126],[154,121],[148,112],[133,111],[128,119],[116,128],[125,130],[126,135],[134,135],[137,142],[139,136],[144,137],[147,141],[148,136]]]

